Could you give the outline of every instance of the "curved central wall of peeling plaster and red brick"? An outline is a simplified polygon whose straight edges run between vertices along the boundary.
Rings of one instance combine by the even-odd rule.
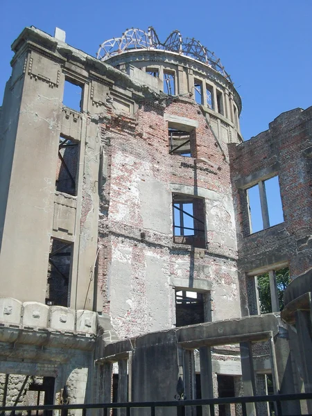
[[[166,119],[174,117],[197,125],[196,157],[214,167],[168,154]],[[102,145],[98,276],[104,310],[121,338],[175,324],[175,287],[211,291],[214,320],[239,316],[227,147],[200,107],[191,98],[168,98],[145,101],[134,115],[112,113]],[[205,249],[173,243],[173,192],[204,198]]]

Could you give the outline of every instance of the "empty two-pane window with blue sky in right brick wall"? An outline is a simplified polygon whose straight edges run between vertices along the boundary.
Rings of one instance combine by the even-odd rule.
[[[250,234],[284,222],[278,176],[259,181],[247,190]]]

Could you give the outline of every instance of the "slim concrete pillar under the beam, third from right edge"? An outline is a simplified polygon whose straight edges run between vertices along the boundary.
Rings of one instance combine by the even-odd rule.
[[[254,379],[254,365],[252,362],[252,344],[247,341],[240,343],[241,348],[241,372],[243,376],[244,396],[254,396],[256,392],[256,383]],[[248,416],[256,416],[254,403],[246,404]]]

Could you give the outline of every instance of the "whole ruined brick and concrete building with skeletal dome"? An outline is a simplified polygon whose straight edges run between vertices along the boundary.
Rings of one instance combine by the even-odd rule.
[[[173,400],[179,377],[188,398],[265,394],[266,374],[309,391],[312,109],[243,142],[199,42],[133,29],[93,58],[64,41],[24,29],[0,108],[0,403]]]

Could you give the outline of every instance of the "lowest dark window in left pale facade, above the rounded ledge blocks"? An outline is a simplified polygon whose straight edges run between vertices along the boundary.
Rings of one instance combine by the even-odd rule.
[[[46,304],[68,306],[73,243],[51,239]]]

